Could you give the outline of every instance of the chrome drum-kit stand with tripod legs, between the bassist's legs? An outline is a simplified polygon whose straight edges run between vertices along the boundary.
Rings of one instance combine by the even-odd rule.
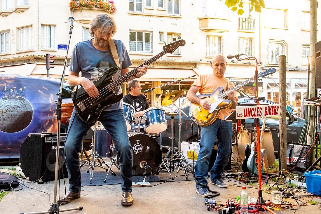
[[[92,152],[91,154],[86,158],[86,160],[84,161],[84,163],[87,163],[89,164],[89,168],[87,169],[87,173],[89,173],[89,169],[90,169],[90,175],[89,175],[89,178],[90,178],[90,182],[91,183],[91,180],[92,180],[92,176],[94,174],[94,169],[96,166],[102,168],[102,169],[105,169],[106,172],[108,171],[111,171],[113,174],[114,172],[110,169],[110,167],[105,163],[105,161],[102,159],[102,157],[98,154],[98,152],[96,151],[96,147],[95,147],[95,142],[96,142],[96,128],[93,129],[94,130],[94,135],[92,137]],[[90,157],[91,157],[91,161],[90,160]],[[98,162],[99,163],[96,163],[96,159],[98,159]],[[100,162],[101,161],[101,162]],[[82,163],[82,165],[84,165],[84,163]],[[103,167],[102,164],[105,164],[107,168]],[[107,173],[108,175],[108,173]],[[106,176],[107,177],[107,176]]]

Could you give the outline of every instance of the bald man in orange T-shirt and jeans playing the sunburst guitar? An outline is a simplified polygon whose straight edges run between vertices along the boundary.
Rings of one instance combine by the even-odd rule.
[[[200,99],[196,93],[211,94],[218,87],[224,91],[233,88],[235,85],[224,77],[226,70],[226,59],[223,55],[216,55],[212,58],[211,67],[213,73],[199,76],[188,90],[187,98],[192,103],[199,104],[205,110],[210,109],[210,103]],[[227,93],[227,99],[232,102],[230,108],[222,109],[217,119],[208,126],[201,127],[200,152],[195,165],[195,178],[198,182],[207,184],[208,167],[212,154],[215,138],[217,138],[217,156],[211,169],[211,184],[226,188],[227,185],[221,180],[224,167],[227,165],[232,148],[232,122],[224,118],[230,114],[230,109],[237,106],[237,94],[234,91]],[[211,196],[205,187],[196,183],[196,192],[202,197]]]

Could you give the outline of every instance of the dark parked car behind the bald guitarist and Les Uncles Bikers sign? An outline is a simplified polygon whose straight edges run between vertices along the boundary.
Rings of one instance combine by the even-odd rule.
[[[254,99],[251,97],[238,97],[238,105],[241,103],[254,103]],[[184,102],[181,104],[181,108],[183,111],[189,116],[188,106],[190,101],[188,101],[187,98],[185,98]],[[262,104],[276,104],[273,101],[270,100],[262,100],[260,101]],[[178,105],[178,104],[177,104]],[[171,106],[165,106],[163,107],[166,112],[171,111]],[[177,110],[174,110],[175,112],[178,112]],[[168,129],[161,134],[161,140],[162,140],[162,146],[170,147],[171,146],[171,118],[166,115],[167,123],[168,123]],[[173,119],[173,124],[175,124],[173,130],[175,133],[175,142],[174,146],[178,147],[178,119],[179,116],[175,116]],[[287,141],[288,142],[297,142],[300,134],[302,132],[302,128],[304,126],[305,120],[302,118],[299,118],[296,114],[293,112],[287,110],[286,111],[286,119],[287,119]],[[253,119],[247,119],[245,120],[245,128],[251,129],[253,128]],[[262,126],[262,119],[260,120],[260,124]],[[187,141],[187,139],[191,140],[191,127],[190,127],[190,118],[187,118],[184,114],[181,114],[181,139],[182,141]],[[194,136],[195,139],[197,138],[197,131],[198,126],[194,124]],[[265,120],[265,127],[270,127],[271,129],[279,129],[279,116],[275,117],[269,117]],[[277,132],[272,132],[272,138],[273,138],[273,145],[274,145],[274,152],[277,156],[278,150],[279,150],[279,136]],[[158,139],[158,141],[160,141]]]

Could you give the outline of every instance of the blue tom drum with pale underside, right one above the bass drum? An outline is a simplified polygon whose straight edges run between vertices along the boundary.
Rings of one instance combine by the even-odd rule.
[[[162,109],[149,108],[144,112],[143,117],[146,118],[144,130],[148,134],[160,134],[168,128],[165,111]]]

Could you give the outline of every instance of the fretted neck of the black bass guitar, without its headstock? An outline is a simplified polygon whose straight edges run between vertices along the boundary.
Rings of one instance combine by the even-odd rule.
[[[155,62],[157,59],[161,58],[165,54],[165,50],[157,54],[156,56],[152,57],[151,59],[147,60],[146,62],[143,62],[138,67],[135,67],[133,70],[127,72],[124,76],[119,77],[117,80],[113,81],[111,84],[107,85],[106,88],[109,90],[115,90],[119,85],[123,84],[124,82],[127,82],[129,79],[131,79],[133,76],[139,73],[138,68],[143,67],[144,65],[150,65],[153,62]]]

